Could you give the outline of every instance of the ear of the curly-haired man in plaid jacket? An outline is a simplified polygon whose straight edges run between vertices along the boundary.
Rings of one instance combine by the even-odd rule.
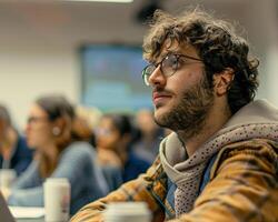
[[[227,93],[234,80],[234,77],[235,71],[231,68],[227,68],[222,72],[216,73],[214,75],[214,85],[217,95],[221,97]]]

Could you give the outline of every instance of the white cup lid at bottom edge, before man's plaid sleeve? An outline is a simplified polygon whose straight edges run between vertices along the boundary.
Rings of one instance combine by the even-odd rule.
[[[105,222],[150,222],[151,213],[145,202],[115,202],[105,211]]]

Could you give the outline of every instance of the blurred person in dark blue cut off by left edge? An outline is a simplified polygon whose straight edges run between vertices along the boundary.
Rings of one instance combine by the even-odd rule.
[[[0,168],[13,169],[20,175],[32,161],[32,153],[12,125],[8,109],[0,104]]]

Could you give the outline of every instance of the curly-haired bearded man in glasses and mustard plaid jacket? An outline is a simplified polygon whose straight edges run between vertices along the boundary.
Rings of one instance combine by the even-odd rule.
[[[278,221],[278,110],[254,101],[258,60],[234,28],[201,10],[157,11],[143,41],[155,120],[173,131],[146,174],[83,206],[145,201],[152,221]]]

